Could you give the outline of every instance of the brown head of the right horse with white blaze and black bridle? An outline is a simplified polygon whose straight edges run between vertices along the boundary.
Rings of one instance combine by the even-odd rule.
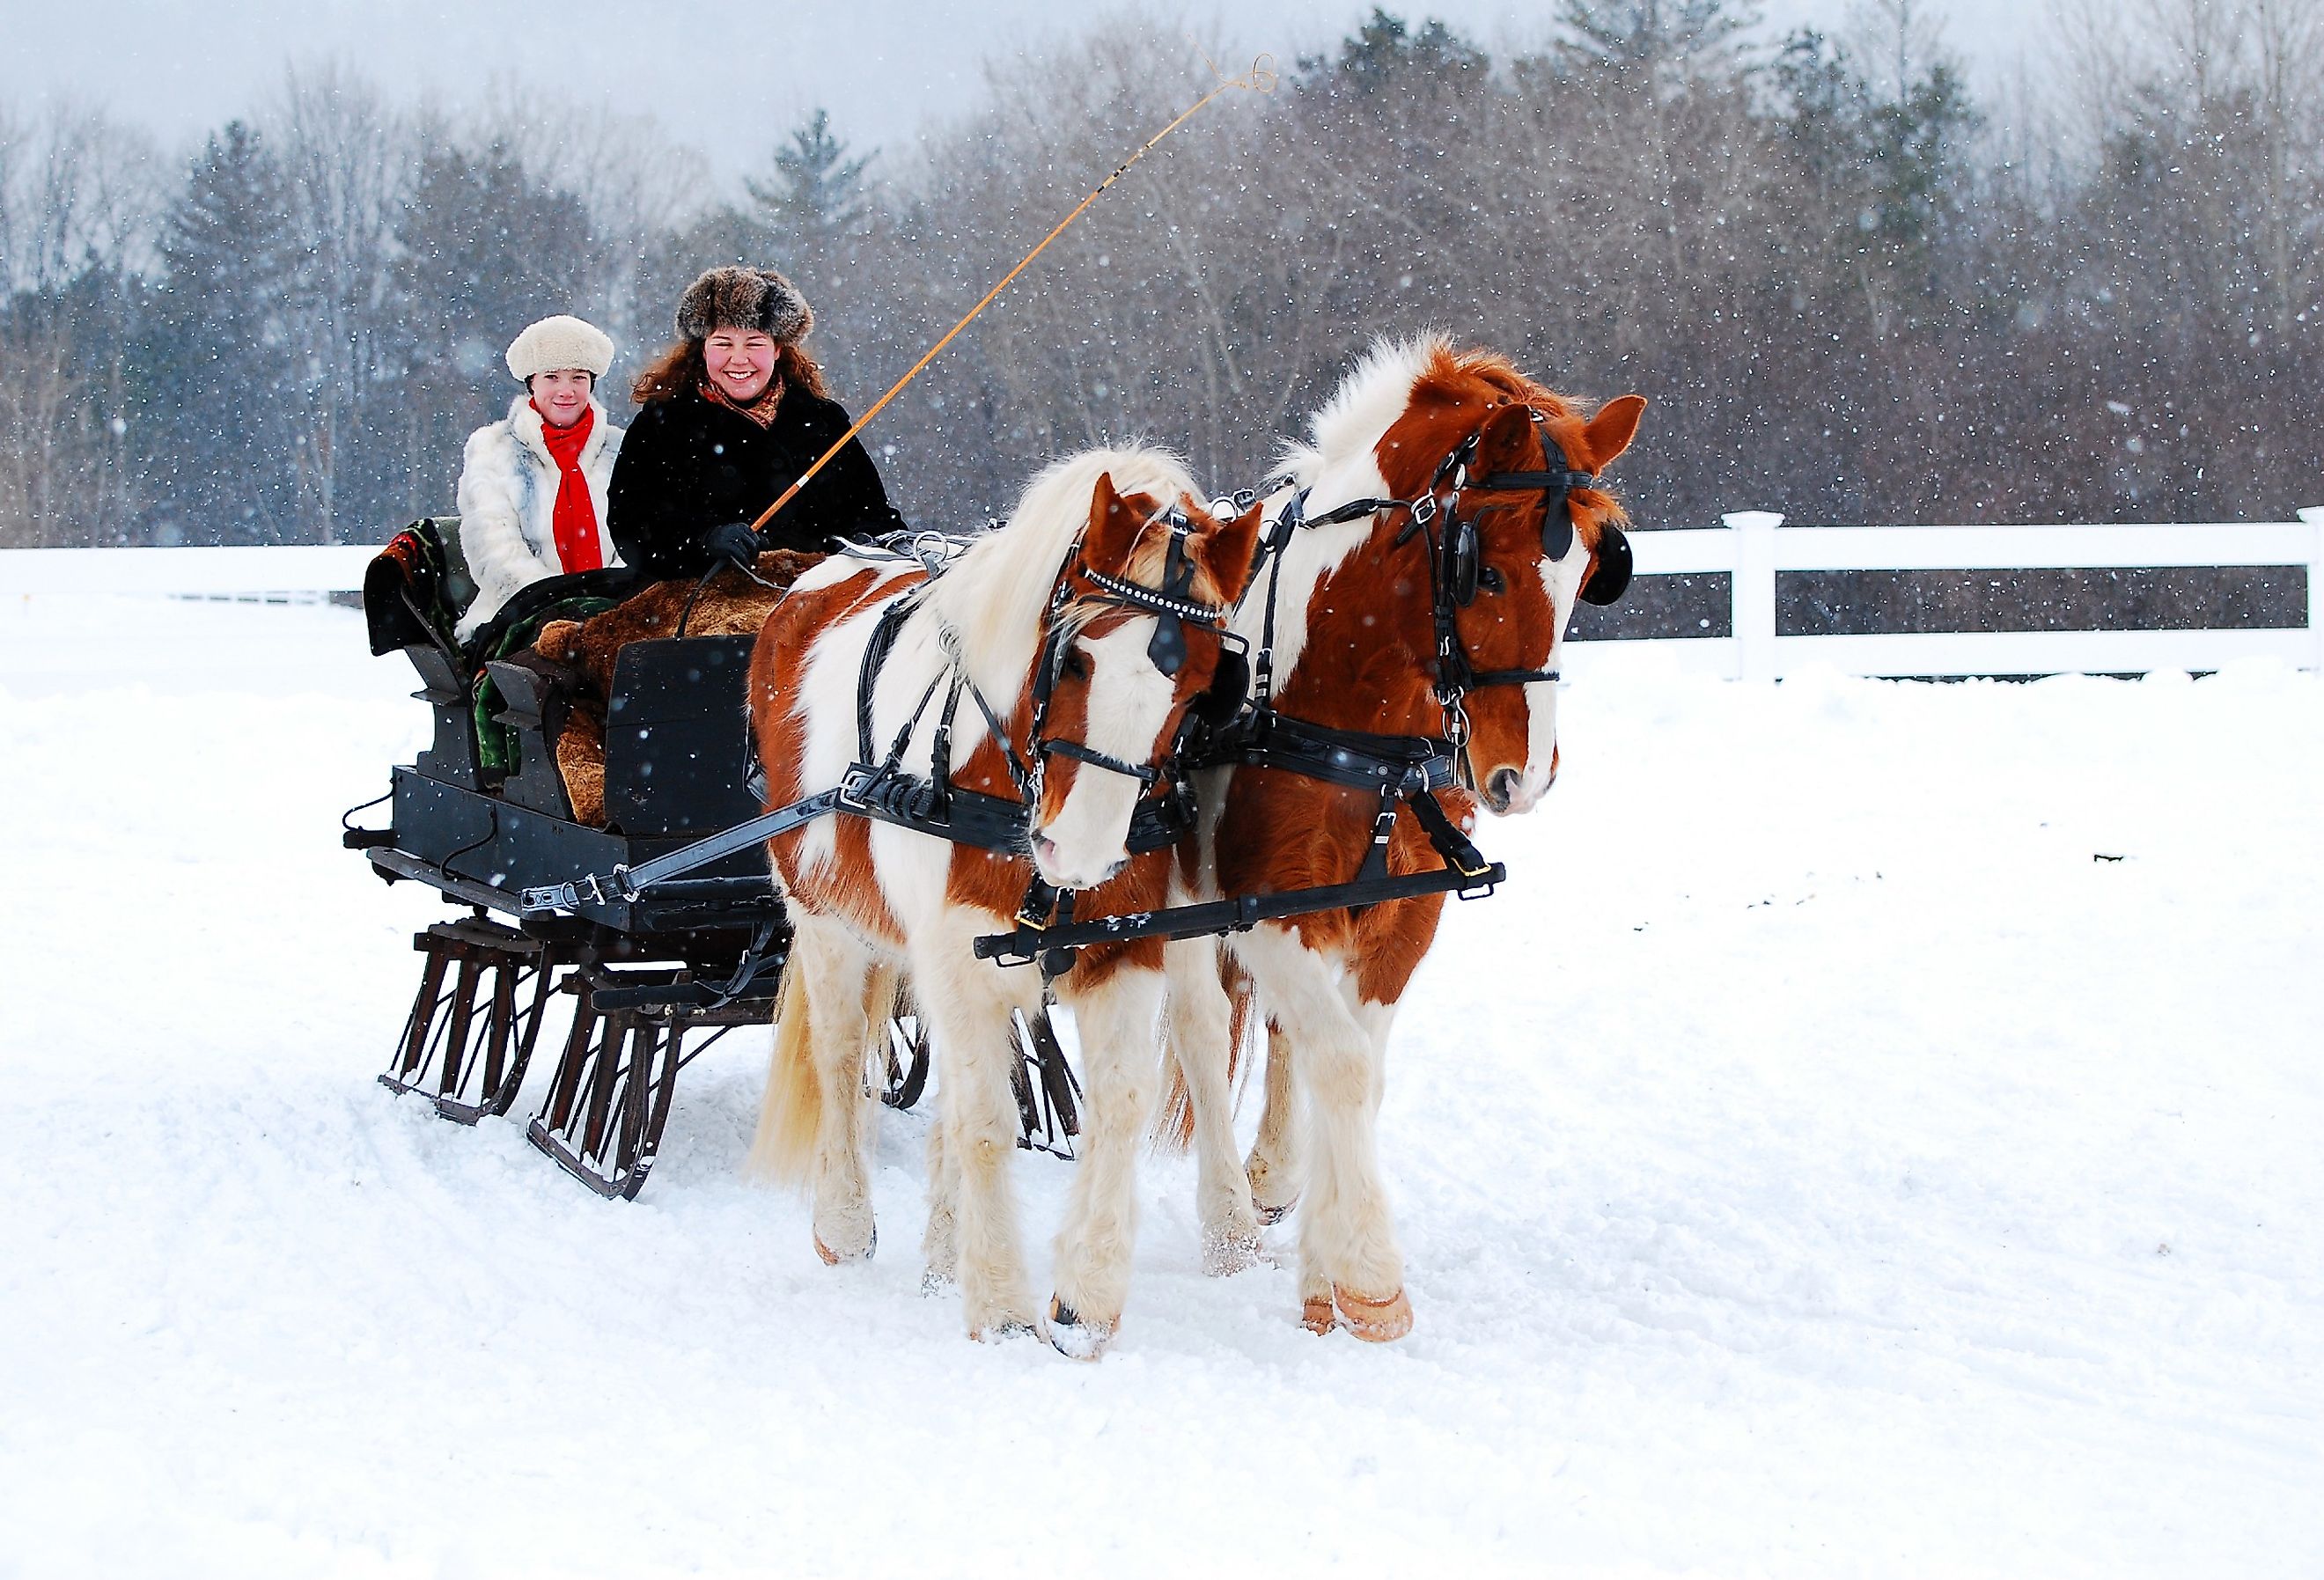
[[[1583,418],[1492,353],[1436,346],[1376,448],[1394,497],[1418,502],[1392,527],[1429,555],[1436,695],[1462,778],[1494,816],[1529,811],[1557,778],[1573,604],[1629,586],[1627,518],[1597,479],[1641,411],[1620,395]]]

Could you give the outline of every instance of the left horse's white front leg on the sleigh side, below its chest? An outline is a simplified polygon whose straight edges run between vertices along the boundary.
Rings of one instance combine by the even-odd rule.
[[[939,1162],[955,1178],[953,1248],[969,1338],[1032,1331],[1034,1301],[1009,1180],[1018,1139],[1018,1108],[1009,1087],[1016,1062],[1009,1022],[1016,1004],[997,971],[974,960],[960,934],[913,950],[911,981],[930,1022],[930,1048],[941,1060]]]

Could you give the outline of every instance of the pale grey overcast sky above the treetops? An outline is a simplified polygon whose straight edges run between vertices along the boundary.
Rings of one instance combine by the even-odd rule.
[[[1831,30],[1855,0],[1764,0],[1771,30]],[[1076,0],[0,0],[0,102],[102,105],[191,146],[246,114],[290,60],[344,60],[397,98],[474,100],[495,74],[569,93],[581,105],[651,109],[723,174],[755,167],[811,105],[858,146],[904,144],[930,119],[974,102],[988,56],[1039,51],[1083,26]],[[1364,0],[1148,5],[1215,28],[1248,63],[1315,53],[1369,14]],[[1536,40],[1550,0],[1390,5],[1443,16],[1492,46]],[[1973,74],[1999,81],[2038,49],[2045,0],[1922,0]],[[1192,53],[1192,51],[1190,51]],[[1229,65],[1229,70],[1239,70]]]

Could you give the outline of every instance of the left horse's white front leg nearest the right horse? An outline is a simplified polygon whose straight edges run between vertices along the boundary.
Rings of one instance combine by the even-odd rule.
[[[1081,1169],[1057,1227],[1048,1341],[1095,1362],[1122,1322],[1129,1252],[1139,1236],[1139,1139],[1160,1076],[1157,1034],[1164,974],[1118,964],[1095,983],[1081,967],[1067,1004],[1081,1032]],[[1199,1108],[1197,1108],[1199,1113]]]

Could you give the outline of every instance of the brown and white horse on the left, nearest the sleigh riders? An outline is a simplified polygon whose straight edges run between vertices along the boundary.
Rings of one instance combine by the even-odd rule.
[[[1185,467],[1162,451],[1062,460],[941,576],[825,560],[769,616],[753,658],[769,806],[839,783],[862,739],[885,746],[902,734],[902,762],[927,764],[941,718],[930,697],[953,674],[976,699],[951,723],[953,785],[1016,797],[1018,776],[1030,781],[1023,850],[955,846],[862,818],[825,818],[769,843],[795,941],[753,1164],[811,1187],[825,1262],[871,1255],[876,1108],[862,1071],[906,974],[939,1071],[927,1276],[957,1276],[971,1336],[1030,1329],[1039,1317],[1009,1185],[1018,1134],[1009,1078],[1013,1015],[1041,1001],[1037,971],[976,960],[971,939],[1016,922],[1037,871],[1078,890],[1083,920],[1162,904],[1171,850],[1129,850],[1148,783],[1136,771],[1169,757],[1188,706],[1208,688],[1218,623],[1250,579],[1260,525],[1257,509],[1220,520],[1197,500]],[[1155,611],[1157,595],[1195,618],[1171,627],[1174,616]],[[904,597],[916,606],[892,627],[869,727],[860,727],[865,648]],[[988,730],[988,706],[1006,751]],[[1081,950],[1053,988],[1081,1032],[1085,1118],[1048,1329],[1060,1350],[1097,1355],[1129,1285],[1136,1148],[1160,1073],[1162,946]]]

